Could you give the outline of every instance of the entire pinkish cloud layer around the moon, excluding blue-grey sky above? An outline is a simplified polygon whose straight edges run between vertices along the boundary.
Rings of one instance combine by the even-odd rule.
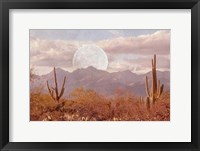
[[[72,60],[75,51],[83,44],[96,44],[108,56],[108,70],[130,70],[145,73],[151,70],[153,54],[157,55],[157,68],[170,68],[170,30],[161,30],[152,34],[115,37],[99,41],[51,40],[30,37],[30,64],[45,73],[52,67],[61,67],[73,71]]]

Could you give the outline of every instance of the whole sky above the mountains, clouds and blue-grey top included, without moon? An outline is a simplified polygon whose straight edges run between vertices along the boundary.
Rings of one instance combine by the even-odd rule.
[[[36,74],[53,67],[72,72],[74,53],[83,45],[97,45],[108,57],[108,72],[146,73],[157,55],[157,68],[169,71],[170,30],[30,30],[30,66]]]

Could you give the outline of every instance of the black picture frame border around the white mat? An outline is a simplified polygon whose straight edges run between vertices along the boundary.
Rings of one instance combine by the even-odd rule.
[[[0,0],[0,149],[200,151],[200,0]],[[9,142],[9,9],[191,9],[191,142]],[[198,60],[199,59],[199,60]]]

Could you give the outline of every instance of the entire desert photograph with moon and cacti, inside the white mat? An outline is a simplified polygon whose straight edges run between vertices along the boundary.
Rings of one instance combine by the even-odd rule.
[[[170,121],[170,29],[30,29],[30,121]]]

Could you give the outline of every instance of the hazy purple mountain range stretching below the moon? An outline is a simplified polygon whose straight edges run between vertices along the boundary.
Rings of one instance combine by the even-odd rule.
[[[149,86],[151,86],[151,72],[140,75],[129,70],[109,73],[90,66],[84,69],[77,69],[73,72],[56,68],[56,74],[59,88],[62,85],[64,76],[66,76],[65,97],[78,87],[92,89],[106,96],[112,96],[117,90],[122,90],[121,93],[129,92],[136,96],[146,96],[146,75],[149,79]],[[170,72],[157,71],[157,78],[164,84],[164,91],[169,90]],[[43,92],[46,93],[48,91],[46,86],[47,80],[49,81],[49,85],[54,86],[53,70],[46,75],[35,76],[35,80],[31,82],[31,90],[36,87],[43,87]]]

